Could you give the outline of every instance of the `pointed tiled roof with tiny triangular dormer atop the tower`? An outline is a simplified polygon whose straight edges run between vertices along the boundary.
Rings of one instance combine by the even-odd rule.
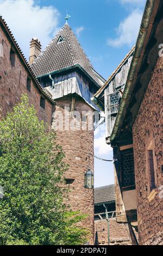
[[[76,35],[66,23],[31,67],[36,77],[40,77],[76,65],[80,65],[96,83],[102,85]]]

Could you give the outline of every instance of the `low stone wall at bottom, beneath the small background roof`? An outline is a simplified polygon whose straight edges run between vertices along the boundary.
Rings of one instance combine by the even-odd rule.
[[[131,245],[127,224],[117,223],[116,218],[109,219],[110,245]],[[99,245],[108,245],[108,222],[95,221],[95,237]]]

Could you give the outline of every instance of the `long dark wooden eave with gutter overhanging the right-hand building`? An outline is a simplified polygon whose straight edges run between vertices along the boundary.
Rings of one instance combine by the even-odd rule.
[[[159,3],[159,5],[158,5]],[[133,141],[132,129],[143,97],[145,96],[153,70],[159,58],[159,44],[163,38],[163,3],[155,1],[155,8],[151,16],[143,48],[136,66],[134,79],[131,82],[131,91],[125,103],[125,110],[118,124],[115,138],[111,141],[112,147],[115,145],[125,145]],[[121,102],[122,103],[122,102]]]

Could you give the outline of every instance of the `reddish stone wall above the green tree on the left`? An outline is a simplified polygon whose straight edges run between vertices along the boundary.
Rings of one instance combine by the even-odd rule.
[[[0,44],[3,41],[3,51],[0,57],[0,118],[17,104],[22,94],[27,94],[29,102],[34,105],[37,116],[49,125],[52,124],[53,103],[46,99],[45,109],[40,107],[41,91],[37,88],[34,81],[31,82],[30,92],[27,90],[28,72],[24,68],[22,61],[16,54],[15,66],[10,62],[10,42],[0,27]]]

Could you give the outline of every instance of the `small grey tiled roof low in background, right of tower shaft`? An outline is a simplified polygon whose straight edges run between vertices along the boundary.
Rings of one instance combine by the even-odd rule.
[[[95,204],[115,201],[115,185],[97,187],[94,190]]]

